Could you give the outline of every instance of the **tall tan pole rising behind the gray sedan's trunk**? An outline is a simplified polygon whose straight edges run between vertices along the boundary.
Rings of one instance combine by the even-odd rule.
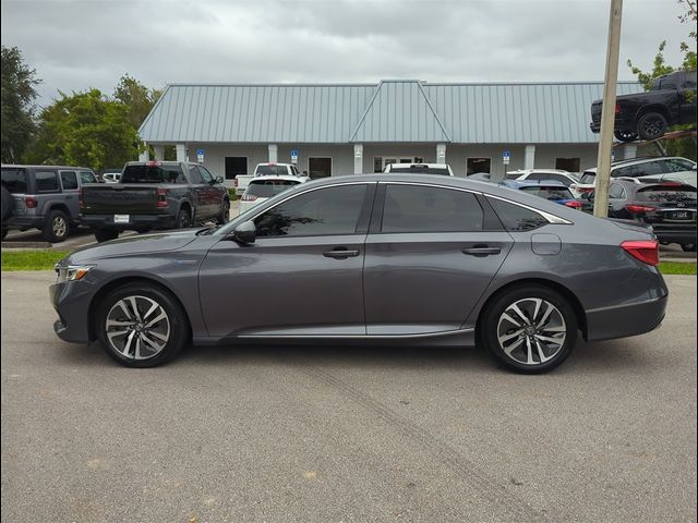
[[[601,107],[601,136],[597,159],[597,190],[593,215],[609,216],[609,182],[611,180],[611,149],[615,123],[615,90],[618,83],[618,53],[621,49],[621,15],[623,0],[611,0],[609,42],[606,47],[606,72],[603,82],[603,106]]]

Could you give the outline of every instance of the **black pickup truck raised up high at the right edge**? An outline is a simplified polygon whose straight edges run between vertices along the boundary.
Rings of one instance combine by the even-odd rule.
[[[622,142],[654,139],[672,125],[696,123],[696,71],[675,71],[658,77],[647,93],[615,99],[614,135]],[[591,105],[590,127],[601,131],[601,105]]]

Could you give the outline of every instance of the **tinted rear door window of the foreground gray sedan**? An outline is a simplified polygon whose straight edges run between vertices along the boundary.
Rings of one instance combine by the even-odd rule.
[[[418,185],[388,185],[382,232],[481,231],[483,211],[464,191]]]

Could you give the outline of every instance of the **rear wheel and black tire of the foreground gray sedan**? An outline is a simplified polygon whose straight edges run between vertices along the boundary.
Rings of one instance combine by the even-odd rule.
[[[529,324],[513,313],[513,306]],[[514,321],[520,321],[518,326],[509,321],[508,313],[515,316]],[[509,288],[495,295],[482,312],[479,328],[479,339],[488,350],[508,368],[522,374],[552,370],[569,356],[577,341],[577,317],[571,305],[543,285]],[[562,343],[539,337],[559,338]]]

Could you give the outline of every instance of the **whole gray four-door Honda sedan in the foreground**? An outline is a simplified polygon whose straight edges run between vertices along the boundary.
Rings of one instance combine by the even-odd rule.
[[[300,184],[231,222],[106,242],[57,266],[57,335],[131,367],[192,343],[482,345],[559,365],[578,335],[660,325],[658,242],[496,185],[419,174]]]

